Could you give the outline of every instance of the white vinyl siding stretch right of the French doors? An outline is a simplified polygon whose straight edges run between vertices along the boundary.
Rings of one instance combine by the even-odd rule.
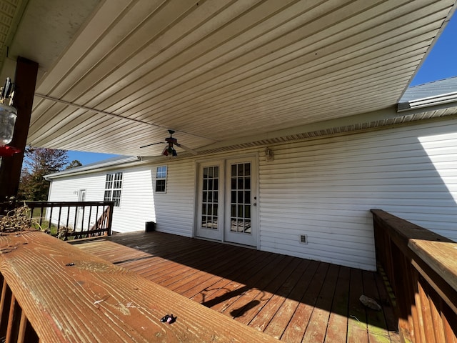
[[[374,208],[457,239],[450,124],[273,146],[274,161],[260,164],[261,249],[375,269]]]

